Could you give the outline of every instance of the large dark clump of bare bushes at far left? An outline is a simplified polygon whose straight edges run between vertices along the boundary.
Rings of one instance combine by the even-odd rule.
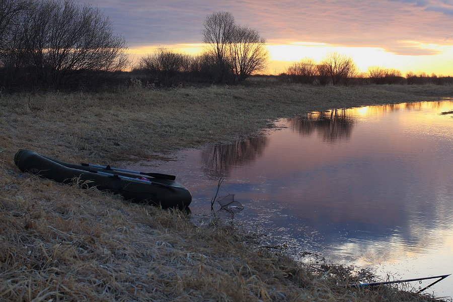
[[[60,87],[93,82],[127,64],[126,41],[98,8],[74,0],[32,0],[21,10],[2,54],[4,82]],[[88,76],[91,77],[88,80]]]

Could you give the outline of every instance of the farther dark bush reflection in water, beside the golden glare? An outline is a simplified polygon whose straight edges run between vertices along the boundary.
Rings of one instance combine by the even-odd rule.
[[[348,109],[311,112],[307,117],[287,119],[291,129],[304,136],[314,131],[326,142],[348,139],[351,135],[355,119]]]

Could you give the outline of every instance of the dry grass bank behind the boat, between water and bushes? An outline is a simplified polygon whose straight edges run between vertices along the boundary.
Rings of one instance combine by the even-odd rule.
[[[310,110],[426,99],[379,86],[130,89],[101,94],[19,94],[0,100],[0,137],[62,160],[124,161],[229,140]]]

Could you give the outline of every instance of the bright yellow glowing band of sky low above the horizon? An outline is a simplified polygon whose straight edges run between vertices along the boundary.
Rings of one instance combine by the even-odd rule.
[[[403,75],[408,71],[437,75],[453,75],[453,45],[426,44],[417,41],[400,41],[403,48],[431,52],[423,55],[396,54],[380,47],[346,47],[321,42],[295,41],[287,44],[267,44],[269,64],[264,73],[285,72],[294,62],[310,58],[320,62],[329,52],[338,52],[352,57],[359,72],[366,72],[371,66],[395,68]],[[128,53],[135,59],[165,47],[175,52],[197,55],[206,44],[186,43],[173,45],[147,45],[130,48]]]

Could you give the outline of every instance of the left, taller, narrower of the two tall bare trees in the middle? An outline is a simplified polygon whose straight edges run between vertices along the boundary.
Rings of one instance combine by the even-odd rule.
[[[216,12],[206,17],[201,34],[209,52],[215,57],[216,82],[221,82],[228,72],[228,47],[235,29],[235,18],[228,12]]]

